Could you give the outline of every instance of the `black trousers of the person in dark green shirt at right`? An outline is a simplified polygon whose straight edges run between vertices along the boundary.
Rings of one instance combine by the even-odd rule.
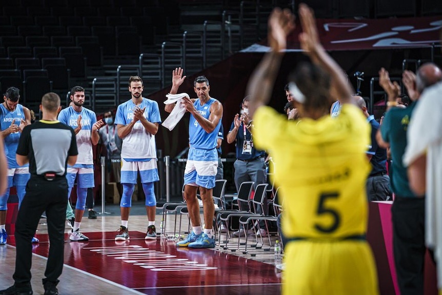
[[[424,293],[425,199],[396,196],[391,208],[393,249],[401,295]]]

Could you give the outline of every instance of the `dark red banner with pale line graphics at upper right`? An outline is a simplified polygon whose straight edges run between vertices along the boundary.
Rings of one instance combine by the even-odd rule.
[[[317,19],[320,41],[326,50],[361,50],[427,47],[439,43],[442,16],[385,19]],[[288,51],[298,51],[299,23],[289,35]],[[267,43],[245,52],[267,51]]]

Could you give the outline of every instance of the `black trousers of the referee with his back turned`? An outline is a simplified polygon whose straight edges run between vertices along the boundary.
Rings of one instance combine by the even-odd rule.
[[[67,196],[68,184],[65,177],[57,176],[53,181],[47,181],[42,176],[31,175],[15,223],[16,258],[13,275],[15,286],[30,285],[31,239],[44,211],[46,211],[50,246],[46,278],[43,279],[43,283],[58,282],[63,270]]]

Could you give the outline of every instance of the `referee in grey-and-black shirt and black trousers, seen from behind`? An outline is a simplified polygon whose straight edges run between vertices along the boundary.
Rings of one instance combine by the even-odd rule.
[[[31,178],[26,186],[22,206],[15,224],[16,258],[14,285],[0,294],[32,294],[31,238],[44,211],[49,233],[49,256],[43,285],[45,295],[58,294],[56,285],[62,274],[64,258],[64,231],[68,183],[67,164],[77,159],[74,130],[57,121],[61,110],[60,97],[53,92],[42,98],[42,120],[23,129],[17,147],[18,165],[29,162]]]

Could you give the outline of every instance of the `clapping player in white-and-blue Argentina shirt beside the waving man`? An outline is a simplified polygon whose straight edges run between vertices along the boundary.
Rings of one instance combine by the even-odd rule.
[[[129,78],[131,99],[120,104],[116,111],[115,125],[123,140],[121,158],[121,183],[123,195],[120,201],[121,226],[115,241],[129,240],[128,221],[132,206],[132,193],[137,173],[146,195],[146,212],[149,220],[145,240],[156,239],[156,198],[153,183],[159,180],[156,165],[155,134],[161,123],[158,103],[142,96],[143,80],[138,76]]]

